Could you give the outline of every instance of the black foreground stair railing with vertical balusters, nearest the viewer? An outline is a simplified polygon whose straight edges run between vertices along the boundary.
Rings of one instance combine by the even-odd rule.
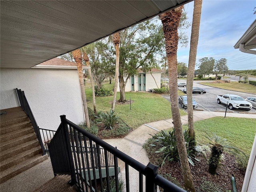
[[[88,163],[88,151],[85,155],[75,153],[75,151],[82,149],[82,142],[86,145],[85,149],[87,150],[87,145],[92,148],[93,142],[96,144],[96,148],[99,151],[99,147],[104,148],[104,152],[110,152],[114,155],[114,179],[116,184],[116,192],[118,192],[118,159],[122,160],[125,163],[125,177],[126,177],[126,191],[130,191],[129,188],[129,166],[138,171],[139,174],[139,191],[143,191],[143,176],[146,176],[146,192],[156,192],[157,186],[164,189],[164,192],[185,192],[182,188],[176,186],[172,182],[158,175],[158,167],[148,163],[147,166],[144,166],[142,163],[134,160],[130,156],[124,154],[120,150],[114,148],[110,144],[104,142],[100,138],[94,136],[90,132],[80,128],[73,122],[66,119],[65,115],[60,116],[61,125],[60,129],[57,130],[56,134],[52,138],[52,142],[49,144],[49,152],[52,161],[52,168],[54,174],[64,173],[69,170],[71,175],[71,180],[81,191],[87,191],[90,188],[91,191],[96,191],[92,186],[97,187],[96,180],[91,178],[96,178],[96,168],[92,164],[92,176],[90,176],[89,166],[88,175],[86,176],[85,172],[86,166]],[[71,137],[72,133],[74,133]],[[81,140],[81,136],[84,136],[84,140]],[[91,150],[92,151],[92,150]],[[62,153],[60,153],[62,152]],[[59,154],[56,154],[59,153]],[[53,155],[52,155],[53,154]],[[98,159],[100,159],[100,153],[97,153]],[[90,156],[92,157],[92,155]],[[94,158],[94,157],[92,157]],[[64,159],[64,160],[63,160]],[[105,158],[106,159],[106,158]],[[102,190],[102,175],[101,175],[101,164],[100,161],[92,159],[92,162],[98,163],[98,172],[100,177],[100,191]],[[107,160],[106,160],[107,161]],[[106,163],[106,182],[109,189],[109,177],[108,177],[108,163]],[[88,181],[85,180],[88,179]]]

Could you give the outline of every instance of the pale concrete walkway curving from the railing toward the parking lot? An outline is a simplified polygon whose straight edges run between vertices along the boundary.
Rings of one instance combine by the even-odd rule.
[[[225,116],[224,112],[206,112],[194,110],[194,122],[212,118],[215,116]],[[227,113],[227,117],[242,117],[242,118],[256,118],[256,114],[242,114],[242,113]],[[142,145],[151,137],[151,135],[156,134],[158,131],[172,128],[172,119],[160,120],[156,122],[150,122],[148,124],[143,124],[136,128],[130,134],[122,139],[107,139],[104,140],[108,144],[117,147],[118,150],[124,152],[128,156],[134,158],[138,162],[148,164],[149,159],[146,154],[146,150]],[[181,116],[182,124],[188,124],[188,116]],[[125,168],[124,162],[118,161],[118,166],[121,169],[121,178],[125,181]],[[139,174],[138,171],[133,168],[129,168],[129,178],[130,178],[130,191],[138,191],[139,186]],[[145,182],[145,179],[143,179]],[[145,191],[145,189],[144,189]]]

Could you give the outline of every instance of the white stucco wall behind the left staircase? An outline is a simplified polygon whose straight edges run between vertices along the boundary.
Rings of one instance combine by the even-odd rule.
[[[62,114],[76,124],[84,121],[77,70],[1,68],[0,75],[1,109],[19,106],[18,88],[40,128],[56,130]]]

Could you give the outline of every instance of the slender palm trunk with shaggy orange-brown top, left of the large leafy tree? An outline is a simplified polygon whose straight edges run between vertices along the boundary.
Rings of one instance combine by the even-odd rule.
[[[116,92],[117,92],[117,84],[118,84],[118,76],[119,76],[119,44],[120,44],[120,36],[119,33],[115,33],[113,35],[113,42],[115,44],[116,49],[116,72],[115,72],[115,86],[114,86],[114,96],[112,102],[112,110],[115,110],[116,104]]]

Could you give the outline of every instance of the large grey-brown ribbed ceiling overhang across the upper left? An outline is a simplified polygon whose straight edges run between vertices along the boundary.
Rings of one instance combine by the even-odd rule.
[[[30,68],[192,0],[1,0],[1,67]]]

